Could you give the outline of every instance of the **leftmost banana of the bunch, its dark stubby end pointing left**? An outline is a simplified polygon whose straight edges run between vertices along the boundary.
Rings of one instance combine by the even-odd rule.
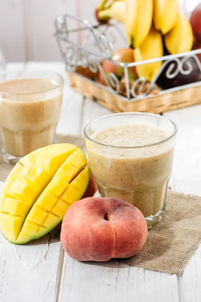
[[[98,21],[107,21],[110,19],[115,19],[120,23],[124,23],[125,18],[126,4],[123,0],[114,1],[108,9],[97,12]]]

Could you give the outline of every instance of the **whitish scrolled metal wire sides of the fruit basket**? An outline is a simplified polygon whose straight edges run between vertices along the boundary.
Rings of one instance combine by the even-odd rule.
[[[69,30],[68,21],[74,20],[76,24],[80,24],[80,28]],[[87,20],[81,20],[70,15],[65,15],[63,19],[57,18],[55,20],[56,39],[58,47],[63,56],[66,64],[66,68],[69,71],[76,71],[77,66],[83,68],[89,68],[93,73],[99,72],[102,75],[107,86],[104,89],[110,90],[114,94],[119,94],[121,90],[121,83],[113,72],[105,72],[102,67],[103,60],[112,61],[113,44],[119,41],[121,37],[122,45],[126,38],[121,30],[119,24],[106,24],[92,26]],[[72,39],[71,35],[80,31],[82,38],[79,45],[75,42],[76,39]],[[93,51],[94,50],[94,51]],[[193,50],[183,54],[168,55],[161,58],[150,59],[146,64],[154,63],[156,61],[162,61],[161,67],[158,70],[151,83],[148,83],[145,78],[141,77],[134,83],[130,84],[129,81],[129,68],[134,67],[137,63],[121,63],[120,67],[124,69],[124,79],[126,86],[127,101],[134,101],[146,97],[148,94],[151,96],[152,89],[156,86],[157,80],[163,73],[166,79],[174,79],[179,73],[182,75],[189,75],[195,66],[198,66],[198,70],[201,73],[201,63],[196,54],[201,54],[200,50]],[[192,62],[194,60],[194,64]],[[115,62],[113,62],[115,63]],[[116,63],[117,64],[117,63]],[[145,64],[145,63],[144,63]],[[167,64],[169,66],[167,67]],[[93,80],[91,80],[93,81]],[[94,81],[93,81],[94,82]],[[100,85],[94,82],[94,85]],[[187,84],[195,85],[195,83]],[[186,85],[185,85],[186,86]],[[180,87],[170,88],[169,91],[175,91],[182,89]],[[159,91],[159,94],[163,91]]]

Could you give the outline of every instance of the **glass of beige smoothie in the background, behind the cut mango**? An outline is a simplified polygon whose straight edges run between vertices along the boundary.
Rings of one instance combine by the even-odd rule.
[[[54,143],[62,93],[63,79],[55,72],[0,74],[0,140],[6,162]]]

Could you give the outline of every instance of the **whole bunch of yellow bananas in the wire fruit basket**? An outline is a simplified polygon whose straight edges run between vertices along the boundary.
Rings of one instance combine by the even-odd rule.
[[[179,12],[179,0],[102,0],[98,21],[115,19],[125,25],[134,60],[163,56],[162,36],[170,54],[191,50],[193,33],[188,19]],[[152,81],[161,61],[136,66],[138,77]]]

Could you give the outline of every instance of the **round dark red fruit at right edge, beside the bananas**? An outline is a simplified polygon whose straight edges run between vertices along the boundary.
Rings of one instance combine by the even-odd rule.
[[[194,37],[201,43],[201,3],[198,4],[191,13],[190,24]]]

